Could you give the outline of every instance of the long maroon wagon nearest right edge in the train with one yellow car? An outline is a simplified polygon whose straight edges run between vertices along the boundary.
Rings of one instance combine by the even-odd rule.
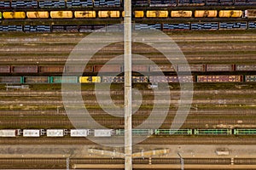
[[[197,76],[196,82],[243,82],[241,75]]]

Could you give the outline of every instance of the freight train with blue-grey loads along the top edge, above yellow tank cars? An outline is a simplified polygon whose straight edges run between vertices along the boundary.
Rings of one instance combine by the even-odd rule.
[[[123,7],[122,0],[12,0],[1,1],[0,8],[99,8]],[[134,7],[253,5],[254,0],[132,0]]]

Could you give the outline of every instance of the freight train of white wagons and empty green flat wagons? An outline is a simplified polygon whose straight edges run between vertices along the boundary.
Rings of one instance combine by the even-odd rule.
[[[111,137],[124,136],[124,129],[0,129],[0,138]],[[132,129],[133,135],[255,135],[256,129]]]

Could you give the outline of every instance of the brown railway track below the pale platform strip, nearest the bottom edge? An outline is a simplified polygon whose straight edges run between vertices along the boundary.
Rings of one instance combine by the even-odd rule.
[[[150,160],[150,161],[149,161]],[[218,164],[230,165],[230,158],[183,158],[184,164]],[[64,164],[67,158],[0,158],[1,164],[9,163],[23,163],[23,164]],[[125,160],[122,158],[70,158],[70,163],[83,163],[83,164],[124,164]],[[134,158],[134,164],[180,164],[179,158]],[[255,158],[234,158],[234,164],[238,165],[255,165]]]

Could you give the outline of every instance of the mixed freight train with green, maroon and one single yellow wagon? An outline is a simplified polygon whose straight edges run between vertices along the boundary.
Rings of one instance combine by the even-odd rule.
[[[256,82],[256,75],[132,76],[132,83]],[[123,76],[102,77],[0,77],[0,84],[124,83]]]

